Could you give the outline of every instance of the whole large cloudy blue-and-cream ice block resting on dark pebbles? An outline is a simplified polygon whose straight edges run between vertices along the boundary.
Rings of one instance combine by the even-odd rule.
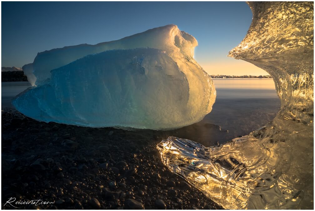
[[[202,120],[216,95],[211,77],[193,59],[197,44],[167,25],[117,41],[44,51],[23,66],[34,86],[13,105],[45,122],[184,127]]]

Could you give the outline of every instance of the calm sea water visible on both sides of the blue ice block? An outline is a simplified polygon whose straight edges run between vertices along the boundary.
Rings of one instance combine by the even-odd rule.
[[[210,146],[223,143],[272,121],[280,108],[271,78],[214,78],[217,97],[211,113],[196,124],[165,132]],[[30,87],[28,82],[2,82],[1,107]],[[221,127],[221,131],[220,128]],[[226,131],[228,130],[228,132]]]

